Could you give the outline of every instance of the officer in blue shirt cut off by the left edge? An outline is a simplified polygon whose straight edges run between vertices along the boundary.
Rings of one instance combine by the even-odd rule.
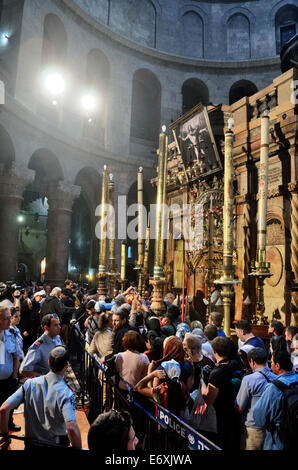
[[[10,331],[11,313],[9,308],[0,307],[0,405],[11,395],[17,386],[17,375],[20,366],[20,351],[14,334]],[[18,432],[9,419],[9,430]]]

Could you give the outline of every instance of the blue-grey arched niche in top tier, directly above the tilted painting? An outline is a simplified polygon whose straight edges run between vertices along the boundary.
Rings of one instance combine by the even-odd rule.
[[[195,11],[186,12],[181,18],[182,41],[180,54],[186,57],[204,57],[204,23]]]

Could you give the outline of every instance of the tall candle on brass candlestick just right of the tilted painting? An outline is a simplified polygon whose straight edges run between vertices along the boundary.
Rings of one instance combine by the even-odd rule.
[[[229,129],[225,134],[225,184],[224,184],[224,210],[223,210],[223,274],[214,284],[222,286],[224,307],[224,332],[230,337],[231,329],[231,302],[234,295],[233,286],[239,281],[234,279],[233,266],[233,119],[229,119]]]

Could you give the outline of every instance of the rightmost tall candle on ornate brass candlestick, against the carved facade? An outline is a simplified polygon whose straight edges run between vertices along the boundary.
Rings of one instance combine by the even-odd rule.
[[[249,276],[258,281],[256,313],[252,323],[267,325],[264,302],[265,279],[272,276],[270,263],[266,262],[266,231],[267,231],[267,193],[268,193],[268,161],[269,161],[269,111],[265,110],[261,116],[261,149],[259,166],[259,201],[258,201],[258,250],[257,260],[252,264]]]

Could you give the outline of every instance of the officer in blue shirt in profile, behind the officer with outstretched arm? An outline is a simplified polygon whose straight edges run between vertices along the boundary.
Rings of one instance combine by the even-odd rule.
[[[45,315],[41,321],[44,334],[33,343],[22,362],[20,374],[23,377],[37,377],[49,372],[49,354],[55,346],[62,344],[60,320],[56,313]]]

